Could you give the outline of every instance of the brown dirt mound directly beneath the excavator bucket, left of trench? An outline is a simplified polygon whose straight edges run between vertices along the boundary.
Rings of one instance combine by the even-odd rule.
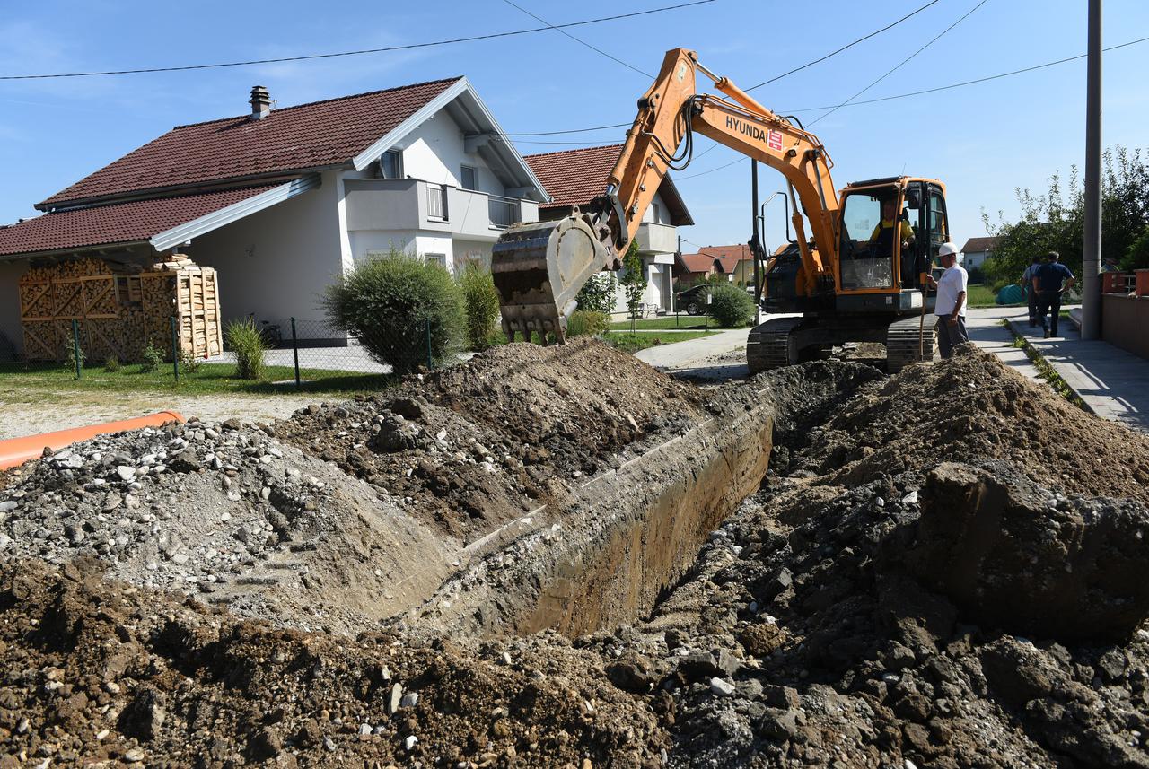
[[[508,344],[411,379],[386,396],[308,406],[286,442],[475,537],[617,467],[617,452],[673,434],[704,394],[594,340]]]

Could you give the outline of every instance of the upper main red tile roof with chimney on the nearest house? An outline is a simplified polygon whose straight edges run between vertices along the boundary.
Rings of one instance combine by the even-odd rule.
[[[346,163],[460,79],[177,126],[39,205]]]

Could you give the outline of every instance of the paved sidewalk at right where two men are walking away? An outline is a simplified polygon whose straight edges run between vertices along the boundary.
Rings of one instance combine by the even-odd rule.
[[[1000,325],[1002,318],[1009,320],[1013,332],[1025,336],[1041,352],[1095,414],[1132,429],[1149,432],[1149,360],[1106,342],[1085,342],[1077,327],[1067,320],[1058,324],[1059,336],[1042,339],[1040,326],[1030,328],[1025,308],[970,310],[970,339],[1019,371],[1028,364],[1028,358],[1023,350],[1001,349],[1003,342],[1012,344],[1012,334]],[[1018,355],[1020,359],[1015,363]],[[1028,368],[1033,373],[1021,373],[1035,376],[1036,370],[1032,365]]]

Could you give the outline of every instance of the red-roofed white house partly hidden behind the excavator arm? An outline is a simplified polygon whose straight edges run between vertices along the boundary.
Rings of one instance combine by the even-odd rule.
[[[553,199],[549,203],[539,205],[540,220],[561,219],[569,216],[576,205],[584,209],[589,205],[607,188],[607,177],[615,168],[622,149],[622,145],[609,145],[526,155],[527,164]],[[669,174],[663,177],[634,238],[647,278],[646,294],[642,297],[645,304],[663,311],[671,309],[674,298],[672,273],[674,253],[678,250],[678,227],[691,224],[694,224],[694,219],[674,182]],[[615,310],[626,311],[622,292]]]

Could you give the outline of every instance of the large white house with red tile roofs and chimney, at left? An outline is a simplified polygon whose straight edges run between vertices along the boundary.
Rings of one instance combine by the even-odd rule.
[[[0,333],[21,339],[30,265],[216,270],[224,319],[319,319],[323,287],[394,247],[450,267],[538,220],[542,184],[465,77],[180,125],[0,228]]]

